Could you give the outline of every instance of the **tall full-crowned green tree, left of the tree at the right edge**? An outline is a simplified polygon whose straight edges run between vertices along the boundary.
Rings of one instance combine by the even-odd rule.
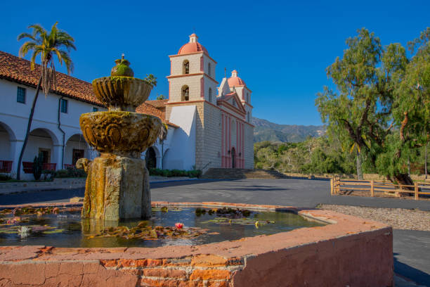
[[[327,68],[338,93],[325,87],[317,94],[315,105],[323,122],[328,123],[327,131],[339,137],[344,150],[356,145],[357,170],[363,153],[367,165],[375,168],[381,161],[378,156],[389,148],[386,139],[396,125],[393,119],[396,84],[408,58],[403,46],[382,47],[379,38],[365,28],[358,30],[358,36],[347,39],[346,45],[343,58],[337,58]],[[408,174],[392,169],[392,165],[386,167],[384,174],[390,168],[391,180],[411,182]]]

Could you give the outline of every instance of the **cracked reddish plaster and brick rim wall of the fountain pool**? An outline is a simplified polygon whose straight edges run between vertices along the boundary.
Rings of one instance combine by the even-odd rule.
[[[159,248],[0,247],[0,286],[393,286],[393,234],[327,210],[237,203],[167,203],[289,210],[323,227]]]

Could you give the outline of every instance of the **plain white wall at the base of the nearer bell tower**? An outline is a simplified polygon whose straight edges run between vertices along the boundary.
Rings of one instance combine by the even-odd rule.
[[[164,155],[164,169],[192,170],[195,165],[196,106],[171,108],[169,122],[178,125]]]

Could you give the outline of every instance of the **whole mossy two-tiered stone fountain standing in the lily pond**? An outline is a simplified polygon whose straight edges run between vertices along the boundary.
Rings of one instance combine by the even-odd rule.
[[[162,122],[136,113],[152,86],[133,77],[128,60],[117,64],[110,77],[93,80],[93,90],[108,111],[82,114],[79,123],[86,141],[100,152],[90,161],[78,160],[86,179],[82,218],[119,220],[149,218],[149,172],[141,153],[155,143]]]

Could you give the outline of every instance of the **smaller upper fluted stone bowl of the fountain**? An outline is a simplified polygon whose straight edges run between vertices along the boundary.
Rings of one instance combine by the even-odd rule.
[[[93,80],[94,94],[110,110],[134,112],[150,96],[152,87],[143,79],[111,76]]]

